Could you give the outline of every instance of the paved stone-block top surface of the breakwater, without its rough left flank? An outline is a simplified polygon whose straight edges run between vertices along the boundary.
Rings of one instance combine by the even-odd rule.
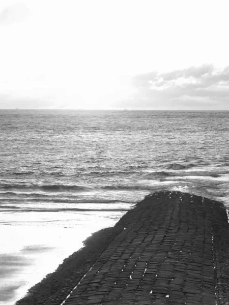
[[[84,292],[77,287],[66,304],[76,304],[78,297],[83,304],[98,305],[215,305],[212,237],[220,240],[213,230],[219,230],[221,218],[225,222],[219,210],[214,201],[204,199],[203,204],[202,197],[180,192],[147,197],[82,279]],[[215,241],[217,249],[220,242]]]

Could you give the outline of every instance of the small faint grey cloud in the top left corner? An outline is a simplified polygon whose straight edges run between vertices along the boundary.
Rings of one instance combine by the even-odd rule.
[[[0,25],[9,25],[18,22],[23,22],[30,11],[23,3],[17,3],[12,6],[6,7],[0,13]]]

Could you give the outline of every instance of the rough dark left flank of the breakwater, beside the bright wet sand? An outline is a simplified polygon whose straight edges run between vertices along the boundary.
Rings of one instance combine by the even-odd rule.
[[[127,213],[132,210],[127,211]],[[126,224],[126,219],[123,218],[126,214],[115,226],[94,232],[85,239],[83,241],[84,247],[65,258],[55,271],[28,289],[26,295],[17,300],[15,305],[61,304],[106,250],[110,242],[123,230]]]

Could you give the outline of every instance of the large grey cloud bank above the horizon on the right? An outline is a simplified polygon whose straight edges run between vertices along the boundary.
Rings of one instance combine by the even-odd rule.
[[[116,106],[149,109],[229,110],[229,66],[212,64],[132,79],[136,93]]]

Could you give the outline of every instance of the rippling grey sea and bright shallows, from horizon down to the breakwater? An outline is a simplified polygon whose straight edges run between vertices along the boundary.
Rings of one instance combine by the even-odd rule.
[[[0,110],[0,304],[151,192],[229,207],[229,112]]]

